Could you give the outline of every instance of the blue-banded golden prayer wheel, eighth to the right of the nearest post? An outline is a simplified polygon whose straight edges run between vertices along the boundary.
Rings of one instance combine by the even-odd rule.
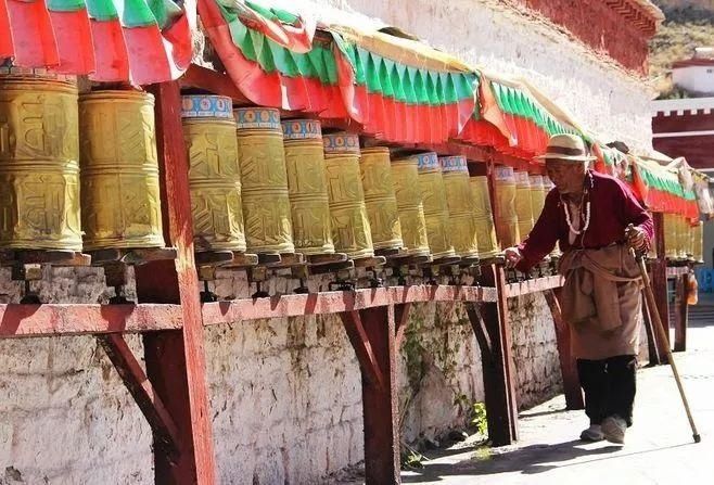
[[[479,235],[467,159],[464,156],[442,156],[438,162],[442,166],[454,251],[457,256],[477,257]]]

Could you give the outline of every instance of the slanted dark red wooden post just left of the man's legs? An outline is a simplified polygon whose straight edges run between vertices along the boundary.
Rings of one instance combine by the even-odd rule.
[[[577,376],[575,357],[571,352],[571,329],[560,310],[560,289],[546,290],[544,292],[553,323],[556,324],[556,340],[558,341],[558,357],[560,358],[560,373],[563,376],[563,393],[565,394],[565,407],[568,409],[585,409],[581,381]]]

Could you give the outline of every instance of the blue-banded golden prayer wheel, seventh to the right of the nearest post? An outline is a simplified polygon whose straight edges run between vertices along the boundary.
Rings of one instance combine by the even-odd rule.
[[[419,188],[424,203],[426,237],[434,258],[456,256],[451,244],[454,227],[449,224],[449,209],[446,202],[444,178],[438,157],[434,152],[417,155]]]

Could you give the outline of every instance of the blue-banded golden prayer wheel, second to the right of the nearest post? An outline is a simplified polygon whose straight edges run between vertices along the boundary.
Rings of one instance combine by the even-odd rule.
[[[239,107],[233,114],[247,251],[294,253],[280,112]]]

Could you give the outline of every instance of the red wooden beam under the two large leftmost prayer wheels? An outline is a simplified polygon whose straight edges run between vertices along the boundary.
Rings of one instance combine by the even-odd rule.
[[[0,337],[180,328],[178,305],[0,305]]]

